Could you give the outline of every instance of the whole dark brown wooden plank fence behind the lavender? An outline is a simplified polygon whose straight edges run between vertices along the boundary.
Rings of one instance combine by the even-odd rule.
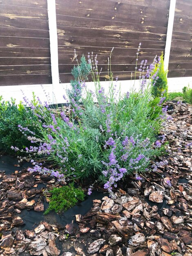
[[[165,51],[170,1],[55,0],[58,63],[53,63],[47,0],[0,0],[0,85],[51,84],[53,65],[58,66],[61,81],[68,83],[76,64],[74,49],[78,58],[98,54],[105,80],[112,47],[114,76],[129,80],[139,43],[138,61],[151,62]],[[191,13],[191,0],[176,1],[168,52],[170,78],[192,76]]]

